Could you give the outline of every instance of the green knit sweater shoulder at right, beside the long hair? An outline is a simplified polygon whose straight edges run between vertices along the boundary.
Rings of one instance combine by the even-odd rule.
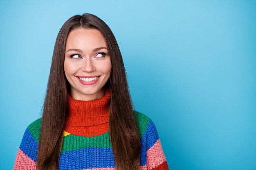
[[[135,120],[136,120],[136,123],[137,123],[139,134],[141,136],[143,136],[145,134],[148,126],[150,124],[152,124],[153,121],[150,119],[150,117],[148,117],[144,113],[141,113],[137,110],[133,110],[133,113],[134,113],[134,116],[135,116]]]

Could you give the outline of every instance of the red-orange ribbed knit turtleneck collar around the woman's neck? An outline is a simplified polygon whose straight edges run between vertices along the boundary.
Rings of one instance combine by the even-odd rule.
[[[73,135],[92,137],[108,132],[110,90],[95,100],[73,99],[68,93],[69,113],[65,131]]]

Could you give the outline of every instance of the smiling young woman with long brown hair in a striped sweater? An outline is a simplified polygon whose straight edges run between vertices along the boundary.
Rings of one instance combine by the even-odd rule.
[[[153,121],[134,110],[119,46],[85,13],[58,33],[43,115],[25,130],[14,170],[168,170]]]

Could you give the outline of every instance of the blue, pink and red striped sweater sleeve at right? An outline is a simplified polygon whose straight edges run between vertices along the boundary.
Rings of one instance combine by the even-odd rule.
[[[146,129],[146,149],[148,170],[169,170],[157,129],[151,119]]]

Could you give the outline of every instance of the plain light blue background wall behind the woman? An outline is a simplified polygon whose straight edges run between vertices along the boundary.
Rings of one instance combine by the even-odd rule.
[[[256,2],[0,1],[2,170],[40,117],[64,22],[112,29],[135,109],[156,125],[171,170],[256,169]]]

